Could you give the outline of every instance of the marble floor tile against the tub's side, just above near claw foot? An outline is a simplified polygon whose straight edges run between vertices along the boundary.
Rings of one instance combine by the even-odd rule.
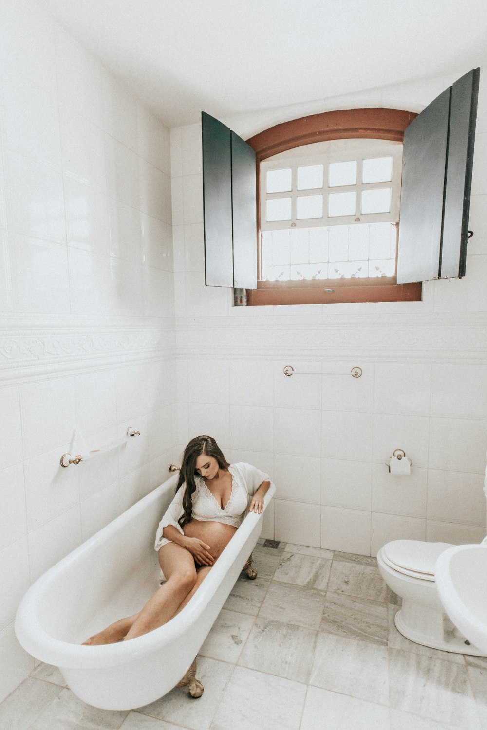
[[[252,629],[255,618],[247,613],[222,608],[210,634],[199,650],[201,656],[222,659],[235,664]]]

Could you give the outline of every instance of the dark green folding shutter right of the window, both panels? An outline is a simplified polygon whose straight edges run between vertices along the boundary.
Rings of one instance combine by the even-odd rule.
[[[404,132],[398,284],[464,275],[479,75],[461,77]]]

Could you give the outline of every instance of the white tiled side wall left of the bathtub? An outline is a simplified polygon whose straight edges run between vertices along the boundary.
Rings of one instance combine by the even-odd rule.
[[[34,4],[1,3],[0,700],[33,668],[28,585],[173,460],[170,182],[169,131]]]

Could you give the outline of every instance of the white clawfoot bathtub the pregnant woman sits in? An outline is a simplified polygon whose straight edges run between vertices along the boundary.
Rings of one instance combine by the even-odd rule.
[[[94,707],[142,707],[180,681],[261,534],[263,515],[249,512],[191,601],[169,623],[128,642],[81,646],[118,618],[137,613],[158,588],[154,537],[177,477],[48,570],[18,608],[15,632],[23,648],[58,666],[74,694]],[[274,492],[271,484],[264,510]]]

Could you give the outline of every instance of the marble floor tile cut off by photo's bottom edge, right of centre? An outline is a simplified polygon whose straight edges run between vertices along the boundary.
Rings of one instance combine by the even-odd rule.
[[[380,704],[308,687],[300,730],[389,730],[389,711]]]

